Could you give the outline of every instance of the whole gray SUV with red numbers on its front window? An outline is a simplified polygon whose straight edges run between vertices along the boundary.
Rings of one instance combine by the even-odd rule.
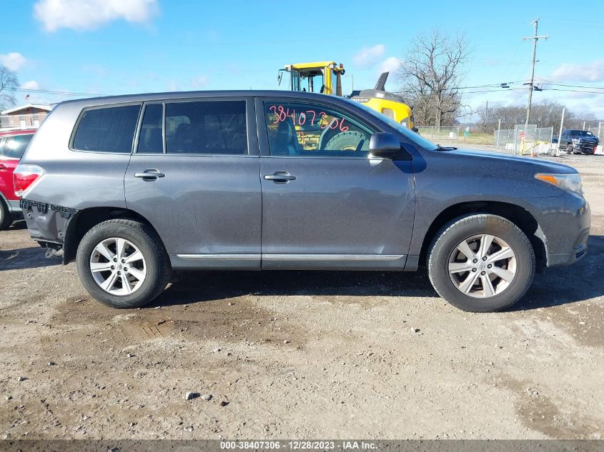
[[[442,148],[361,104],[207,91],[59,104],[14,174],[29,233],[144,306],[181,270],[416,271],[495,311],[586,252],[575,169]]]

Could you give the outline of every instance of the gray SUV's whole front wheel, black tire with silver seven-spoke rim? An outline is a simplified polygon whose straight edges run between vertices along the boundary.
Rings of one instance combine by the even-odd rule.
[[[432,286],[463,311],[499,311],[520,300],[535,276],[527,236],[501,216],[473,214],[447,224],[428,258]]]

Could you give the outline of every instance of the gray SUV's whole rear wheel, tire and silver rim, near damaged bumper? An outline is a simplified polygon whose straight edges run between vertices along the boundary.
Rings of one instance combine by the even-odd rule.
[[[146,224],[109,220],[81,239],[76,264],[86,291],[114,308],[139,308],[162,293],[170,277],[169,258]]]

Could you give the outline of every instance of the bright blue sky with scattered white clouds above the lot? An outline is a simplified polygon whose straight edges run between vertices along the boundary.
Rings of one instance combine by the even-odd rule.
[[[604,89],[591,88],[604,88],[604,1],[5,0],[2,15],[0,63],[16,70],[24,89],[82,94],[277,89],[285,64],[318,60],[345,64],[347,93],[351,75],[355,89],[372,88],[410,39],[431,29],[466,35],[465,86],[518,81],[511,87],[520,88],[532,51],[520,38],[533,34],[530,21],[540,16],[539,34],[550,39],[538,44],[538,81],[601,94],[550,89],[533,99],[604,119]],[[397,89],[393,74],[387,88]],[[523,89],[465,91],[474,107],[528,99]],[[72,97],[30,92],[34,102]]]

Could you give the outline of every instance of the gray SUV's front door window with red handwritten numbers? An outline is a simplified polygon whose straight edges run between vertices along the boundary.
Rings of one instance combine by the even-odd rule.
[[[272,156],[362,157],[373,134],[335,109],[298,102],[264,102]]]

